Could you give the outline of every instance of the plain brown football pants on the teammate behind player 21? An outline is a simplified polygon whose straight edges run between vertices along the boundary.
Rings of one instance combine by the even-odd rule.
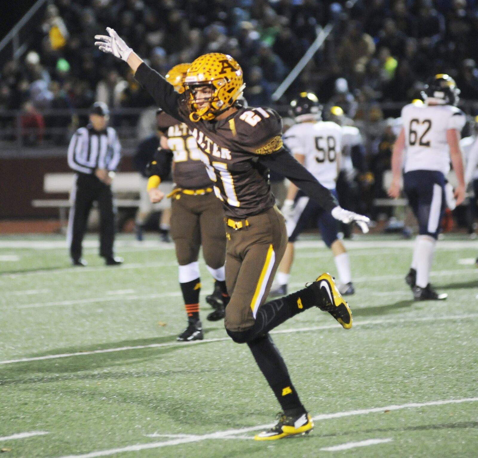
[[[171,237],[179,265],[196,262],[202,245],[206,264],[213,269],[222,267],[226,258],[226,232],[221,201],[213,192],[202,196],[174,195]]]

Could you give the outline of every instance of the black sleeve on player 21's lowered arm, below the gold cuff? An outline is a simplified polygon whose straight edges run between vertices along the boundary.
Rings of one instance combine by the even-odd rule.
[[[285,175],[305,195],[314,199],[326,211],[337,207],[337,199],[322,186],[302,164],[300,164],[285,148],[272,154],[261,156],[260,163],[265,167]]]

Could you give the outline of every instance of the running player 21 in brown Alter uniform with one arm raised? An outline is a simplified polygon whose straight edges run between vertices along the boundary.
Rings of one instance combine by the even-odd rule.
[[[190,66],[179,95],[108,28],[97,35],[100,50],[121,58],[168,114],[187,124],[196,138],[216,195],[227,215],[226,284],[231,296],[225,326],[237,343],[247,343],[282,406],[277,425],[255,436],[274,440],[309,432],[314,423],[300,402],[269,331],[306,309],[329,312],[346,329],[352,314],[333,278],[324,273],[308,287],[265,303],[287,243],[284,218],[274,206],[267,169],[284,174],[334,218],[366,225],[368,218],[340,208],[330,192],[283,147],[282,122],[272,109],[236,105],[244,88],[242,70],[230,56],[213,53]]]

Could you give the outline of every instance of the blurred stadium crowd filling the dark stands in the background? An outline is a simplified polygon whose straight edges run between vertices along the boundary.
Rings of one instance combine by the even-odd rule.
[[[334,27],[325,45],[273,102],[317,26],[327,23]],[[367,160],[358,168],[370,201],[382,192],[374,176],[390,168],[396,129],[386,118],[400,113],[383,110],[380,102],[408,103],[435,73],[453,76],[461,98],[478,99],[476,0],[54,0],[28,52],[2,66],[0,111],[22,110],[22,126],[33,131],[23,138],[26,144],[40,142],[45,127],[58,128],[53,140],[64,143],[68,132],[62,129],[78,127],[75,110],[94,101],[113,113],[152,105],[129,69],[95,49],[93,37],[106,26],[163,75],[204,53],[232,55],[244,70],[250,106],[287,106],[308,90],[326,104],[326,113],[341,107],[363,137]],[[42,114],[45,109],[71,110],[72,116]],[[0,116],[0,128],[9,122]],[[113,116],[112,123],[132,126],[138,117]]]

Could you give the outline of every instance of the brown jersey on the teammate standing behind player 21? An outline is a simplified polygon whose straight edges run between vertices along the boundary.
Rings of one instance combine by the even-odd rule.
[[[158,119],[158,129],[168,139],[168,148],[173,153],[173,181],[182,188],[202,189],[211,186],[211,180],[201,162],[201,151],[188,126],[164,111]]]

